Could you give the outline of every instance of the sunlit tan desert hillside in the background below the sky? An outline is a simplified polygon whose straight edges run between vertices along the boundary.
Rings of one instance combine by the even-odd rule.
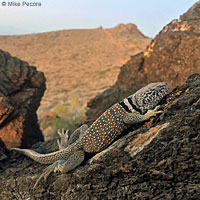
[[[39,115],[75,96],[81,103],[114,84],[120,66],[150,42],[134,24],[0,36],[0,49],[45,73]]]

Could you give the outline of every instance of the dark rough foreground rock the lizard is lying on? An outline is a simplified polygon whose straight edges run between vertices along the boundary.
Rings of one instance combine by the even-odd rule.
[[[161,102],[160,116],[127,130],[72,172],[51,175],[35,191],[32,187],[46,166],[10,153],[0,162],[0,198],[198,199],[199,99],[200,74],[193,74]],[[55,143],[37,143],[34,148],[49,152]]]

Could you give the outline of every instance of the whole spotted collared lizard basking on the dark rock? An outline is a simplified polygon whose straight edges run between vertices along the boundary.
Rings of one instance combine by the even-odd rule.
[[[108,147],[124,130],[156,116],[160,111],[159,102],[169,92],[166,82],[150,83],[136,93],[115,103],[98,117],[90,127],[84,124],[71,136],[68,131],[58,130],[59,150],[49,154],[40,154],[30,149],[12,148],[33,160],[49,165],[39,177],[45,180],[51,172],[67,173],[79,166],[86,153],[98,153]],[[69,138],[68,138],[69,137]],[[34,186],[34,188],[35,188]]]

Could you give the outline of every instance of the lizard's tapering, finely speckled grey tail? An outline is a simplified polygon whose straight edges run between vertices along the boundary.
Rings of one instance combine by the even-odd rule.
[[[19,149],[19,148],[11,148],[10,150],[14,150],[17,152],[20,152],[36,162],[42,163],[42,164],[51,164],[54,163],[57,160],[68,160],[69,156],[74,152],[79,149],[79,144],[76,142],[73,143],[72,145],[69,145],[67,148],[48,153],[48,154],[40,154],[36,151],[33,151],[31,149]]]

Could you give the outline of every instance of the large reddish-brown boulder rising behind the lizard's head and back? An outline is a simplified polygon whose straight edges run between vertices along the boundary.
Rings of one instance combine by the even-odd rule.
[[[166,81],[174,88],[190,74],[199,73],[199,13],[200,1],[166,25],[144,53],[132,56],[122,66],[115,85],[88,103],[88,119],[96,119],[112,104],[148,83]]]

